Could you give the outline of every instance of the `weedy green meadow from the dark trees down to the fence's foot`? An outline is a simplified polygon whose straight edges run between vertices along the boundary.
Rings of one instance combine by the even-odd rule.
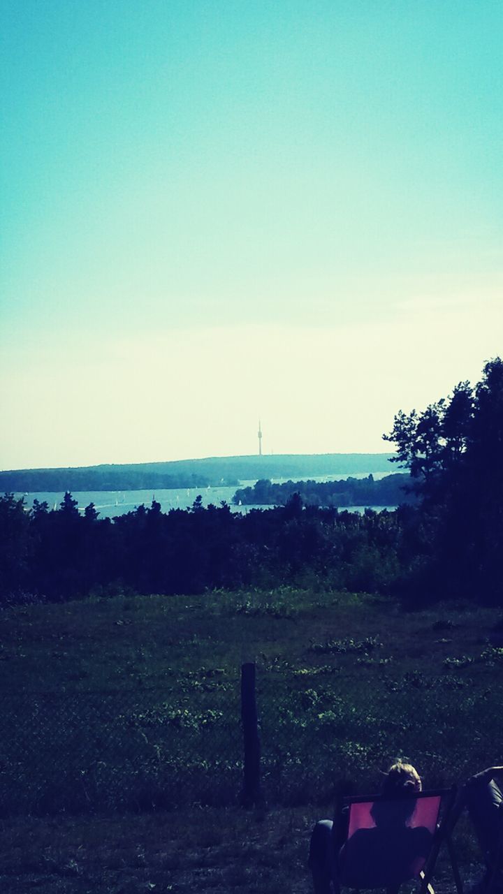
[[[290,615],[271,614],[286,596]],[[5,609],[0,811],[232,805],[243,655],[257,661],[270,805],[325,803],[341,779],[369,789],[398,754],[429,784],[450,784],[491,762],[503,691],[494,611],[449,612],[446,642],[436,629],[445,606],[410,613],[337,592]]]

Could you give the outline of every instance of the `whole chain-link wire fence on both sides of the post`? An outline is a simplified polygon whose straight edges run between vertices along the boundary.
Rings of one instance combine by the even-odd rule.
[[[405,756],[429,785],[494,763],[503,681],[487,691],[455,675],[371,686],[337,671],[258,667],[262,788],[269,804],[329,801],[338,780],[376,786]],[[196,685],[197,684],[197,685]],[[4,694],[0,812],[149,810],[229,805],[243,781],[239,669],[226,683],[161,689]]]

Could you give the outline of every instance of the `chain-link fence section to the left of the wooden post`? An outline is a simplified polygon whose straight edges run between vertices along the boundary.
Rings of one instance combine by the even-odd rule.
[[[4,696],[0,810],[229,803],[241,770],[239,704],[199,701],[189,708],[158,689]]]

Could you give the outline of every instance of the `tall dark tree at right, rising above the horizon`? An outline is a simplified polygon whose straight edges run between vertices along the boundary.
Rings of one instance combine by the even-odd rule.
[[[399,586],[415,602],[430,593],[501,603],[503,361],[486,363],[474,388],[462,382],[422,413],[400,411],[384,437],[422,498]]]

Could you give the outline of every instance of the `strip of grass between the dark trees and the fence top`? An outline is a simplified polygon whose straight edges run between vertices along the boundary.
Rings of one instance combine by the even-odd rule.
[[[1,612],[0,627],[0,660],[16,692],[168,693],[201,669],[235,679],[243,660],[307,671],[328,661],[346,676],[362,675],[365,665],[375,676],[385,662],[396,672],[456,671],[488,645],[503,647],[500,610],[448,603],[411,612],[383,597],[290,588],[12,607]],[[493,676],[486,671],[497,651],[472,675]]]

